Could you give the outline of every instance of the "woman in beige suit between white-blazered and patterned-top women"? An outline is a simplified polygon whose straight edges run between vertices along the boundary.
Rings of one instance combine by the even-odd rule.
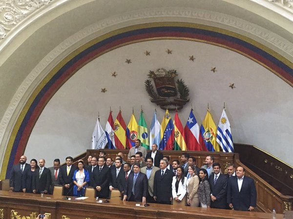
[[[187,203],[190,206],[198,207],[199,198],[197,194],[199,178],[195,173],[195,167],[193,165],[188,166],[188,173],[190,177],[187,180],[188,200]]]

